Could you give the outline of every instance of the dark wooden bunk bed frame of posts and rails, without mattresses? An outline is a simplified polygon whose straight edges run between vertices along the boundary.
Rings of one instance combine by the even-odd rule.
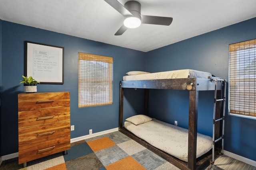
[[[196,159],[196,139],[197,139],[197,117],[198,117],[198,92],[206,90],[215,90],[215,81],[213,79],[220,79],[217,77],[208,78],[177,78],[177,79],[164,79],[164,80],[130,80],[120,81],[119,89],[119,123],[118,129],[134,141],[140,143],[147,149],[158,154],[171,164],[174,164],[182,170],[196,170],[203,169],[212,160],[212,150]],[[189,90],[189,123],[188,123],[188,162],[184,162],[170,154],[159,150],[146,141],[136,137],[131,132],[123,127],[123,108],[124,108],[124,88],[140,88],[145,89],[145,107],[144,114],[148,115],[148,93],[149,89],[172,89],[172,90]],[[222,96],[222,82],[217,82],[217,98]],[[216,103],[216,119],[222,117],[223,110],[220,102]],[[215,124],[215,137],[220,137],[222,131],[222,124],[217,122]],[[215,144],[214,154],[220,154],[222,143]]]

